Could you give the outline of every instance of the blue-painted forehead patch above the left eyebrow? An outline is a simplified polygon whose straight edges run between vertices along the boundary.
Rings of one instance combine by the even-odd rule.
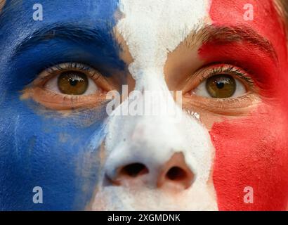
[[[55,23],[80,22],[96,26],[111,23],[114,20],[114,12],[117,10],[118,1],[48,1],[40,0],[37,4],[43,6],[43,20],[34,21],[33,6],[35,1],[6,0],[2,8],[1,27],[10,30],[33,30]],[[113,25],[113,24],[112,24]],[[23,32],[23,31],[21,31]]]

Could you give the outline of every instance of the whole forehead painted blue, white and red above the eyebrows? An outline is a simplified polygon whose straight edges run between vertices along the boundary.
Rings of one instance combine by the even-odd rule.
[[[271,41],[278,53],[284,51],[284,29],[275,29],[280,27],[280,23],[273,0],[60,0],[57,3],[42,0],[38,3],[43,6],[43,21],[32,18],[34,1],[6,1],[0,17],[0,32],[4,34],[0,37],[0,45],[13,49],[22,39],[43,27],[76,23],[77,27],[96,27],[103,37],[108,33],[113,34],[114,27],[118,26],[117,30],[121,30],[123,36],[134,37],[133,43],[128,43],[130,53],[132,48],[138,48],[133,52],[149,52],[151,55],[153,51],[150,50],[157,49],[157,53],[162,54],[163,51],[173,51],[190,32],[209,24],[246,25]],[[244,6],[247,4],[253,6],[253,20],[244,20]],[[119,29],[119,20],[120,23],[126,21],[122,29]],[[126,42],[127,37],[124,37]],[[103,43],[112,46],[112,39],[103,38]],[[117,40],[117,37],[114,36],[114,39]],[[145,48],[149,51],[143,51]],[[110,52],[114,52],[118,58],[117,47],[111,47]],[[164,54],[162,56],[165,60]],[[150,56],[146,58],[150,58],[151,62],[155,60]]]

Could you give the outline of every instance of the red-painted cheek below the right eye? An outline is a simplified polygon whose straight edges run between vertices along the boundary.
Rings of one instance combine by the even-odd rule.
[[[285,210],[288,193],[287,124],[258,108],[242,120],[214,124],[214,186],[219,210]],[[251,186],[254,203],[244,203]]]

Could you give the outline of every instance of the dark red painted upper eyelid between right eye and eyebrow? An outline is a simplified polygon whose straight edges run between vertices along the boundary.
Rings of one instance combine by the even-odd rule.
[[[262,96],[269,99],[271,95],[276,95],[279,70],[275,60],[253,44],[245,41],[240,43],[212,41],[204,44],[199,49],[199,54],[207,64],[228,63],[249,71],[249,76],[254,80]]]

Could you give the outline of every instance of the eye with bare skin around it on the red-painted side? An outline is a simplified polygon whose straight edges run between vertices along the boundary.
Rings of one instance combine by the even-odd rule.
[[[194,72],[183,87],[183,108],[218,115],[245,115],[261,101],[250,72],[229,64],[214,64]]]

